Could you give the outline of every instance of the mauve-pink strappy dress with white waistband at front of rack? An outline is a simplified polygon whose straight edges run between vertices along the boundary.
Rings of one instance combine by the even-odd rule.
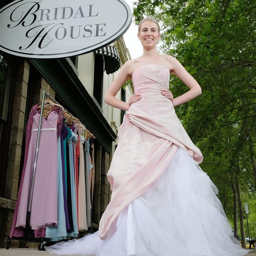
[[[30,226],[39,230],[46,226],[57,226],[57,168],[58,141],[57,123],[59,115],[52,111],[47,120],[43,117],[41,137],[38,149],[35,183],[33,189]],[[33,164],[37,142],[40,114],[33,116],[32,135],[28,150],[28,160],[22,191],[20,195],[19,211],[17,214],[17,228],[26,226],[26,214],[31,190]]]

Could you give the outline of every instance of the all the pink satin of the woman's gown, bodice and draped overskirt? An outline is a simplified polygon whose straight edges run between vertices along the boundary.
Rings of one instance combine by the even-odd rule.
[[[184,148],[197,163],[203,160],[176,116],[171,100],[161,94],[161,89],[169,89],[169,77],[169,68],[160,64],[142,65],[133,72],[135,93],[142,98],[126,111],[118,130],[118,147],[107,174],[111,201],[99,224],[101,239],[107,237],[124,207],[164,173],[178,147]]]

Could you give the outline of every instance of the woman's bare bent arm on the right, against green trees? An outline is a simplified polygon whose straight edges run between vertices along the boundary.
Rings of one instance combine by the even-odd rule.
[[[187,72],[177,59],[173,56],[168,56],[168,58],[171,66],[173,67],[172,74],[178,76],[178,78],[180,78],[187,87],[189,87],[189,91],[173,99],[173,106],[175,107],[196,98],[202,93],[202,89],[193,76]]]

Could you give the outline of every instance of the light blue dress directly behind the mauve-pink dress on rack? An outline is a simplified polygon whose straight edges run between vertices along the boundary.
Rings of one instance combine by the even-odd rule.
[[[58,139],[58,226],[46,227],[46,237],[52,241],[66,239],[67,229],[64,211],[63,182],[62,182],[62,163],[61,163],[61,141]]]

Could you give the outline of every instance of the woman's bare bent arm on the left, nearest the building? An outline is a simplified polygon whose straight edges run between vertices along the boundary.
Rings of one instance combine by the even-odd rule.
[[[128,80],[129,68],[130,68],[130,63],[129,63],[129,61],[127,61],[121,67],[121,69],[119,70],[119,72],[117,74],[117,77],[111,83],[111,85],[108,88],[108,91],[106,91],[106,93],[104,95],[104,102],[106,102],[108,105],[110,105],[114,108],[119,108],[119,109],[123,109],[123,110],[129,109],[128,103],[115,98],[115,95],[118,93],[121,86]]]

